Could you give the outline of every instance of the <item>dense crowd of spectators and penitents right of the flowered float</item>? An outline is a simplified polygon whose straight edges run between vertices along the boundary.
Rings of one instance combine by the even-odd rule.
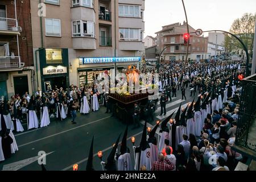
[[[146,68],[142,72],[154,73],[155,70]],[[108,161],[101,162],[107,170],[231,171],[242,161],[243,156],[232,150],[241,104],[238,75],[244,74],[240,63],[187,65],[179,81],[181,70],[181,64],[160,66],[161,98],[168,100],[168,88],[175,96],[176,89],[184,93],[189,86],[194,100],[185,109],[180,105],[175,118],[172,118],[174,112],[160,124],[157,122],[152,130],[148,130],[145,123],[141,143],[133,147],[134,168],[126,146],[126,129],[120,152],[115,146]],[[160,115],[163,112],[166,115],[165,108]],[[155,137],[157,130],[160,140]]]

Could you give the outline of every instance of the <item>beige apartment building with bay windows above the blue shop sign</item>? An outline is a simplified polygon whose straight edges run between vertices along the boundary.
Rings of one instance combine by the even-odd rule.
[[[31,0],[34,60],[42,90],[82,86],[141,61],[143,0]],[[41,9],[42,10],[42,9]]]

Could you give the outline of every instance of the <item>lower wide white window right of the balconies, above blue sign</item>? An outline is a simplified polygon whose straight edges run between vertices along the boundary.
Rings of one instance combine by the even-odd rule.
[[[136,41],[141,40],[141,30],[133,28],[120,28],[119,29],[119,40],[125,41]]]

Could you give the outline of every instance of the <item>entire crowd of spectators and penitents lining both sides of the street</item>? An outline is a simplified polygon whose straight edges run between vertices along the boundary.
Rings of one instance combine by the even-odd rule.
[[[232,151],[236,137],[236,126],[240,109],[240,80],[238,75],[243,73],[240,63],[202,63],[188,64],[184,74],[182,64],[161,64],[159,69],[159,92],[161,114],[166,115],[163,104],[170,98],[176,97],[177,90],[181,90],[185,97],[185,90],[191,91],[196,102],[192,101],[185,109],[177,111],[175,119],[172,115],[161,121],[161,126],[156,125],[146,136],[146,125],[143,129],[142,141],[139,147],[134,147],[136,170],[233,170],[238,161],[242,160],[241,154]],[[156,68],[142,68],[141,73],[155,73]],[[154,84],[154,79],[152,80]],[[172,93],[172,97],[171,97]],[[1,138],[2,151],[0,161],[10,157],[11,153],[18,150],[13,130],[24,131],[22,123],[27,123],[27,129],[46,127],[50,118],[59,121],[69,117],[76,123],[76,111],[88,114],[97,111],[102,102],[108,107],[108,92],[98,92],[96,82],[90,86],[71,85],[67,89],[52,88],[48,85],[45,93],[37,90],[30,96],[16,94],[9,100],[1,98]],[[183,98],[182,98],[183,99]],[[149,102],[151,103],[151,102]],[[151,106],[150,106],[151,107]],[[136,109],[139,110],[136,105]],[[152,109],[152,107],[151,107]],[[153,112],[153,110],[152,110]],[[135,114],[137,115],[137,114]],[[151,120],[153,114],[148,115]],[[135,117],[136,125],[139,113]],[[170,126],[167,126],[169,123]],[[155,137],[156,130],[160,129],[160,140]],[[109,170],[133,170],[131,167],[130,150],[126,147],[126,135],[123,136],[120,154],[117,148],[102,162]],[[118,138],[119,141],[119,138]],[[117,147],[118,144],[115,146]],[[113,148],[114,150],[114,148]],[[213,157],[214,156],[214,157]],[[209,159],[216,159],[216,163]],[[113,160],[112,160],[113,159]],[[115,168],[115,160],[118,168]],[[127,164],[128,163],[128,164]]]

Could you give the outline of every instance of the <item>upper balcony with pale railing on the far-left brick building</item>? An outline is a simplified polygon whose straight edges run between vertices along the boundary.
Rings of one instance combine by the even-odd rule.
[[[19,35],[20,31],[22,28],[17,26],[16,19],[0,18],[0,34]]]

